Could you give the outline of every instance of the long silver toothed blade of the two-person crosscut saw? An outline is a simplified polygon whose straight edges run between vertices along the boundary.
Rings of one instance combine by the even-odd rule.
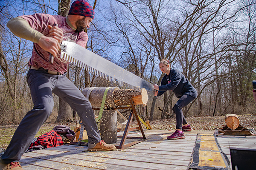
[[[147,91],[154,91],[154,86],[151,83],[81,47],[75,42],[63,41],[62,46],[61,58],[79,68],[84,68],[86,71],[116,83],[121,87],[130,89],[145,88]]]

